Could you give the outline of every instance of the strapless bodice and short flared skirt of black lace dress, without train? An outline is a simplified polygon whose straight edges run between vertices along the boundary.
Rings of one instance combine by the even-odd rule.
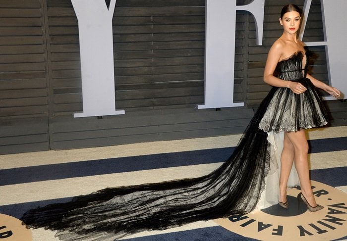
[[[278,77],[299,82],[307,90],[297,95],[289,88],[273,88],[273,96],[259,128],[266,132],[299,131],[327,124],[325,107],[307,74],[307,54],[297,51],[277,64]]]

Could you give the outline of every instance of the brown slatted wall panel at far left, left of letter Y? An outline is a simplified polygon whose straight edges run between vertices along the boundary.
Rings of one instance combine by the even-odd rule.
[[[1,0],[0,153],[49,148],[42,10],[39,0]]]

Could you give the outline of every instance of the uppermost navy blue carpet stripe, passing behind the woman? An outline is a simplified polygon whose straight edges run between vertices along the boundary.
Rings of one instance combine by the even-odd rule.
[[[310,153],[347,149],[347,137],[309,141]],[[235,147],[79,161],[0,170],[0,186],[223,162]]]

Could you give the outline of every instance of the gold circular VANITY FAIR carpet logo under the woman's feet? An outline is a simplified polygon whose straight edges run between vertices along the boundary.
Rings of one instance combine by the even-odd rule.
[[[263,241],[335,240],[347,235],[347,194],[328,185],[312,181],[317,203],[324,208],[310,212],[296,198],[298,188],[288,191],[289,208],[279,205],[214,220],[220,226],[253,239]]]

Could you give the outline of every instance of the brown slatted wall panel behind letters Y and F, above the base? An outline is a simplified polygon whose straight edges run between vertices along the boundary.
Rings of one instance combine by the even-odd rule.
[[[203,103],[203,0],[116,2],[114,52],[117,108],[126,111]],[[69,0],[48,2],[55,116],[82,110],[77,19]],[[243,22],[238,20],[236,75],[243,79]],[[242,100],[241,81],[235,100]]]

